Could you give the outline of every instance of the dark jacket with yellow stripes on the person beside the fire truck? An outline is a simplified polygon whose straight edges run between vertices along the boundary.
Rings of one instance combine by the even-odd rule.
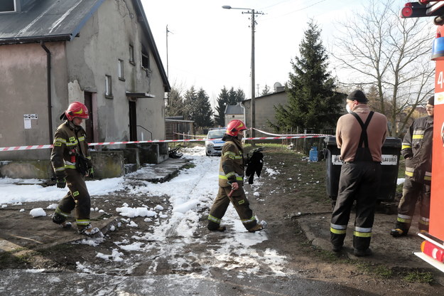
[[[433,117],[415,120],[402,141],[401,154],[406,158],[406,177],[423,184],[432,179]],[[411,157],[411,159],[407,159]]]

